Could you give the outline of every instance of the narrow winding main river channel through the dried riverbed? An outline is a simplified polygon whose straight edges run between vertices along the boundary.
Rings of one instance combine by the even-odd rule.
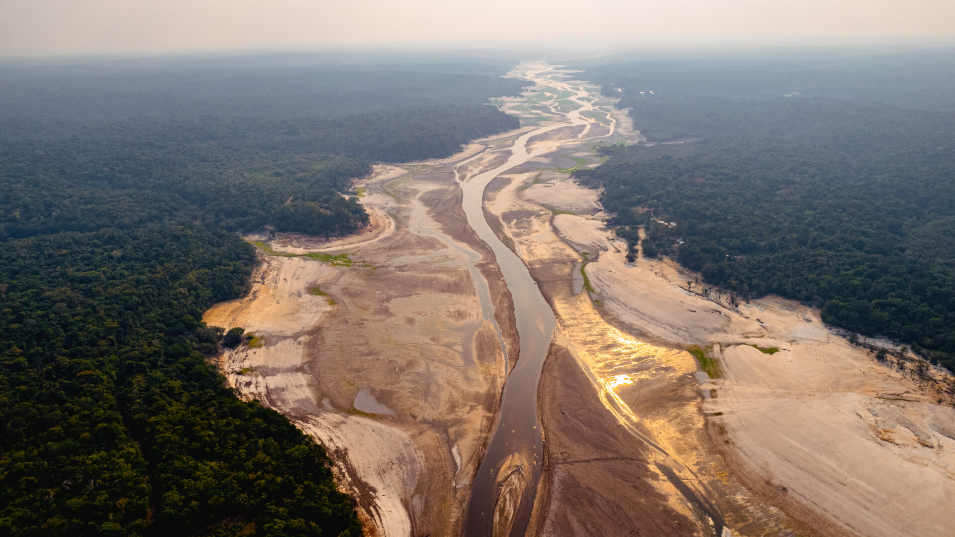
[[[526,65],[522,74],[534,82],[574,95],[575,110],[562,113],[564,120],[524,133],[510,148],[511,157],[498,167],[485,171],[461,183],[462,201],[468,225],[491,249],[508,290],[514,298],[514,313],[520,336],[520,357],[504,384],[500,418],[488,445],[484,459],[477,470],[471,497],[464,512],[463,534],[466,537],[489,535],[520,536],[530,522],[537,484],[541,477],[543,441],[537,411],[537,390],[541,368],[550,347],[551,334],[557,321],[554,312],[544,300],[541,290],[531,277],[523,260],[506,247],[488,225],[482,210],[484,189],[499,175],[529,161],[552,147],[528,152],[528,141],[548,131],[562,127],[584,125],[592,120],[581,112],[593,106],[583,88],[572,87],[561,80],[553,66],[543,63]],[[552,100],[556,100],[554,97]],[[556,103],[553,103],[556,104]],[[557,106],[551,110],[557,111]],[[589,128],[579,139],[584,139]],[[505,496],[507,498],[505,498]],[[495,516],[496,510],[499,516]],[[497,527],[496,527],[497,525]],[[507,530],[510,526],[510,531]]]

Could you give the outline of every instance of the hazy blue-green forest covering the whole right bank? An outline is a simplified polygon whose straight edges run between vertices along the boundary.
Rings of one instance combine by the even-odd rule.
[[[594,67],[648,143],[602,148],[610,159],[575,175],[605,189],[645,255],[744,298],[816,305],[828,323],[953,369],[953,59]]]

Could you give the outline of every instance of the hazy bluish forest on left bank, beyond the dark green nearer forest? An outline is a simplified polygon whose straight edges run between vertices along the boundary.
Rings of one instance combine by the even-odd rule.
[[[248,75],[256,83],[192,71],[172,81],[142,76],[34,73],[6,82],[16,91],[0,97],[8,101],[0,120],[10,127],[0,134],[0,239],[166,219],[236,231],[348,233],[367,216],[335,191],[369,173],[371,161],[446,157],[469,140],[519,126],[482,104],[519,92],[513,79],[338,71]],[[40,85],[30,92],[28,83]],[[74,91],[90,95],[77,100]],[[303,99],[310,104],[293,115]],[[272,115],[273,108],[280,110]],[[321,218],[292,216],[301,214]]]

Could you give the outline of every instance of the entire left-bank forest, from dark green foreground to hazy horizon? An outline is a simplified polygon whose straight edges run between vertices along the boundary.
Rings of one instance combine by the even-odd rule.
[[[274,59],[0,66],[4,534],[361,534],[202,311],[247,289],[236,232],[357,229],[350,178],[516,127],[483,103],[520,81]]]

